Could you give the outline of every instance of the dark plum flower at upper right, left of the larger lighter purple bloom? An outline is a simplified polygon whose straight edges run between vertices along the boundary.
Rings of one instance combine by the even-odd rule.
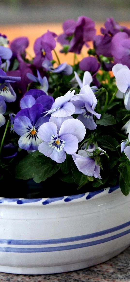
[[[96,35],[93,39],[93,45],[96,54],[103,55],[105,57],[112,57],[111,53],[111,40],[112,37],[109,34],[105,35]]]

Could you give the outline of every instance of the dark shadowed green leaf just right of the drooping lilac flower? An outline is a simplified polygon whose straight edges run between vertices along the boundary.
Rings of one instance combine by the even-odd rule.
[[[111,151],[116,151],[116,147],[118,146],[118,142],[115,138],[111,137],[110,135],[102,135],[98,139],[98,142],[103,148],[107,148]]]

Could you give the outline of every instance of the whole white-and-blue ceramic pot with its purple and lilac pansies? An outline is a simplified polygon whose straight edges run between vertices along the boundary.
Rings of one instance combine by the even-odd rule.
[[[130,29],[104,25],[69,19],[34,58],[28,38],[0,35],[0,271],[76,270],[129,246]]]

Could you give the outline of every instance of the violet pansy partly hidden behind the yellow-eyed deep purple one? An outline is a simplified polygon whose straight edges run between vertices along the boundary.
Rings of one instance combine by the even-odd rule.
[[[21,99],[20,107],[21,109],[30,108],[36,103],[41,103],[43,105],[43,111],[48,111],[52,107],[54,99],[46,95],[42,90],[30,89]]]

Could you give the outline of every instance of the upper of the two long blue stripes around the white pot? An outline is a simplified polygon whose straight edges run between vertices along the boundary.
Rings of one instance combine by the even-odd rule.
[[[109,228],[99,232],[94,232],[86,235],[75,236],[75,237],[67,237],[67,238],[59,238],[59,239],[48,239],[48,240],[13,240],[13,239],[0,239],[0,244],[8,244],[8,245],[43,245],[43,244],[58,244],[58,243],[67,243],[73,241],[81,241],[85,239],[91,239],[94,237],[99,237],[102,235],[106,235],[126,227],[130,226],[130,221]],[[121,234],[121,233],[120,233]]]

